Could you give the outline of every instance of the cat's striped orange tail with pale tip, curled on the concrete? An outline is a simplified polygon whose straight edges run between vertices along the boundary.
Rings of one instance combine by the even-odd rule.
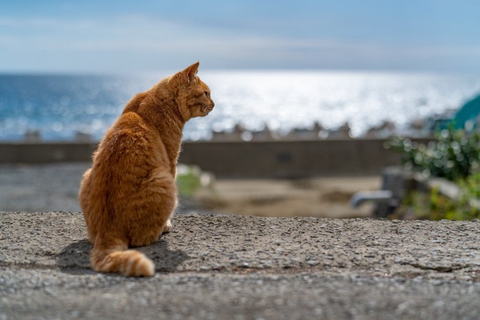
[[[152,260],[136,250],[127,250],[121,241],[98,243],[91,251],[91,264],[95,271],[121,273],[129,277],[150,277],[155,273]]]

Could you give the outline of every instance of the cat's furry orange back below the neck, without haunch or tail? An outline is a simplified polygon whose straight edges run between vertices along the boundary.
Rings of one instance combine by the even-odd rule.
[[[145,204],[145,181],[165,167],[163,145],[155,130],[134,112],[122,114],[108,129],[82,179],[79,200],[88,225],[88,238],[135,217]],[[168,172],[167,170],[164,170]],[[118,230],[123,227],[117,226]],[[123,230],[123,232],[126,232]]]

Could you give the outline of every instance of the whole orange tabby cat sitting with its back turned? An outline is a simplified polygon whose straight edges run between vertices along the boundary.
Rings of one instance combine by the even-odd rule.
[[[79,199],[96,271],[154,274],[152,260],[128,247],[149,245],[171,229],[184,123],[214,106],[210,89],[196,76],[199,64],[133,97],[84,173]]]

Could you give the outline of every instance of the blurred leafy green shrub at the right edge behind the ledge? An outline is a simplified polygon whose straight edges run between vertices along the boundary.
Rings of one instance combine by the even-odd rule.
[[[393,138],[387,147],[400,153],[405,169],[424,175],[444,177],[459,185],[459,199],[441,195],[437,189],[429,193],[414,190],[392,216],[396,219],[455,219],[480,218],[480,135],[442,130],[428,145],[409,138]]]

